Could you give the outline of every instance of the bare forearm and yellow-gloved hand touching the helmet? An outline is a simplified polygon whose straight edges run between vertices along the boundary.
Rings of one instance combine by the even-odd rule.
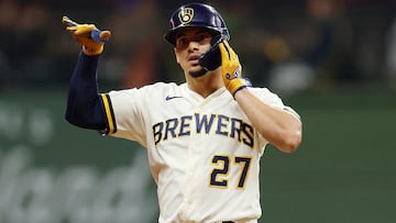
[[[285,153],[294,152],[302,138],[302,124],[296,114],[260,100],[248,88],[250,82],[242,78],[238,55],[227,41],[219,44],[221,70],[226,88],[234,97],[257,132]]]

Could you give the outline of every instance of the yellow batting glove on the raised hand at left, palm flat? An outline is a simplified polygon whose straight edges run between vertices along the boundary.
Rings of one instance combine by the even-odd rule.
[[[103,52],[103,45],[111,36],[110,31],[100,31],[94,24],[78,24],[67,16],[62,18],[66,30],[75,40],[82,45],[82,52],[87,55],[98,55]]]

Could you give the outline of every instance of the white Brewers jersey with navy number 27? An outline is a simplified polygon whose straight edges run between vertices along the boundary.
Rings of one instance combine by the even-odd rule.
[[[288,108],[266,88],[249,89]],[[102,99],[110,134],[147,149],[160,223],[260,219],[260,158],[267,141],[226,88],[202,98],[186,83],[158,82]]]

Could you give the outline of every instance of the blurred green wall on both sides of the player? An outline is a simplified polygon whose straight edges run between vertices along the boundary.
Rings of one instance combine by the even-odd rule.
[[[381,89],[283,97],[294,154],[262,158],[260,222],[394,222],[396,100]],[[63,92],[0,92],[0,222],[156,222],[144,148],[64,119]]]

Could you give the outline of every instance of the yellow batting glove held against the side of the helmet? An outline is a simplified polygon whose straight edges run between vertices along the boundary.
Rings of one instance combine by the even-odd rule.
[[[239,62],[238,55],[230,47],[227,40],[219,44],[221,54],[221,75],[226,88],[231,92],[232,97],[237,91],[250,87],[249,80],[242,78],[242,66]]]

